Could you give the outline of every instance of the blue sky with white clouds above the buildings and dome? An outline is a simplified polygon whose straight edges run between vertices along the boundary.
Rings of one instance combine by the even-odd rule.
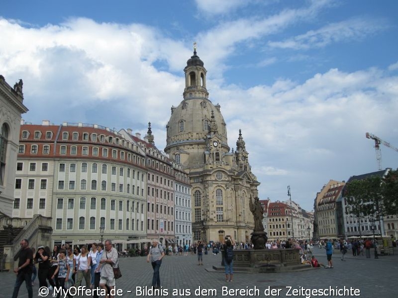
[[[367,132],[398,148],[398,1],[2,0],[0,74],[23,119],[131,128],[166,146],[193,43],[228,144],[239,129],[260,199],[313,209],[330,179],[378,170]],[[398,152],[381,145],[382,167]]]

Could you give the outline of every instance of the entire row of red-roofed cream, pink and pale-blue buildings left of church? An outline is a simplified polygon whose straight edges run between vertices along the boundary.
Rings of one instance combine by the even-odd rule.
[[[148,134],[21,123],[12,217],[52,218],[54,243],[192,242],[191,184]],[[103,228],[103,232],[100,231]]]

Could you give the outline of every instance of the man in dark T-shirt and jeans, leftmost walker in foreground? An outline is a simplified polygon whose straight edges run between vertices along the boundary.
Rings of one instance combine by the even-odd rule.
[[[14,285],[14,291],[12,292],[12,298],[18,297],[19,288],[22,283],[25,282],[26,290],[28,291],[28,298],[33,298],[32,290],[32,272],[33,272],[33,252],[29,248],[29,242],[26,239],[22,239],[19,243],[21,249],[19,253],[14,257],[14,261],[19,258],[18,267],[14,269],[16,273],[16,281]]]

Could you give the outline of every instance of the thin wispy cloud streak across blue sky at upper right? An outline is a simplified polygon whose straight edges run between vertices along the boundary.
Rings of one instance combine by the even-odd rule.
[[[310,30],[284,41],[269,41],[268,46],[295,50],[321,48],[331,43],[362,40],[387,27],[387,23],[383,19],[354,18],[328,24],[318,30]]]

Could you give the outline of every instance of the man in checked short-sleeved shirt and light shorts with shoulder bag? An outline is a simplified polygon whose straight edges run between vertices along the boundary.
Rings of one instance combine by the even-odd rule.
[[[109,298],[112,298],[115,291],[116,280],[113,274],[113,268],[119,267],[119,254],[112,246],[112,241],[106,239],[104,242],[105,251],[102,253],[100,259],[100,287],[108,293]],[[106,286],[109,287],[107,290]]]

